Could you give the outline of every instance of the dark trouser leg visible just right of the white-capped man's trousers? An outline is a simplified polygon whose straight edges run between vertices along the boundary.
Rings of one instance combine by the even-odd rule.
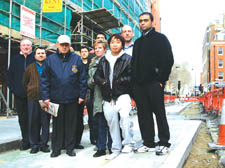
[[[81,139],[82,139],[82,134],[84,131],[84,121],[83,121],[83,113],[84,113],[84,103],[81,103],[78,105],[79,110],[77,114],[77,130],[76,130],[76,140],[75,140],[75,145],[80,144]]]

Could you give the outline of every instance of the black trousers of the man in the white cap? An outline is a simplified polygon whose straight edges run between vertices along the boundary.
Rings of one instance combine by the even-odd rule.
[[[78,108],[77,102],[59,105],[58,116],[53,117],[53,151],[60,151],[64,147],[67,151],[74,149]]]

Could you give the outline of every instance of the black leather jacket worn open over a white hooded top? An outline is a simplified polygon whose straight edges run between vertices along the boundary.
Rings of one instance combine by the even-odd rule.
[[[131,56],[124,53],[114,65],[112,88],[109,81],[110,64],[104,56],[98,64],[94,80],[100,86],[103,100],[110,102],[122,94],[130,94]]]

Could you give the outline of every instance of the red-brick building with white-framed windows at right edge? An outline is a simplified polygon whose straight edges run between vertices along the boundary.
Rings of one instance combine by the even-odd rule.
[[[204,91],[225,86],[225,27],[224,19],[207,27],[203,41],[201,74]]]

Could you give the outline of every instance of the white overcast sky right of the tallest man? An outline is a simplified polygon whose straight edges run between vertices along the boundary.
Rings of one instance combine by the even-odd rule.
[[[173,48],[176,63],[187,61],[202,71],[202,42],[210,22],[225,13],[225,0],[159,0],[161,32]]]

